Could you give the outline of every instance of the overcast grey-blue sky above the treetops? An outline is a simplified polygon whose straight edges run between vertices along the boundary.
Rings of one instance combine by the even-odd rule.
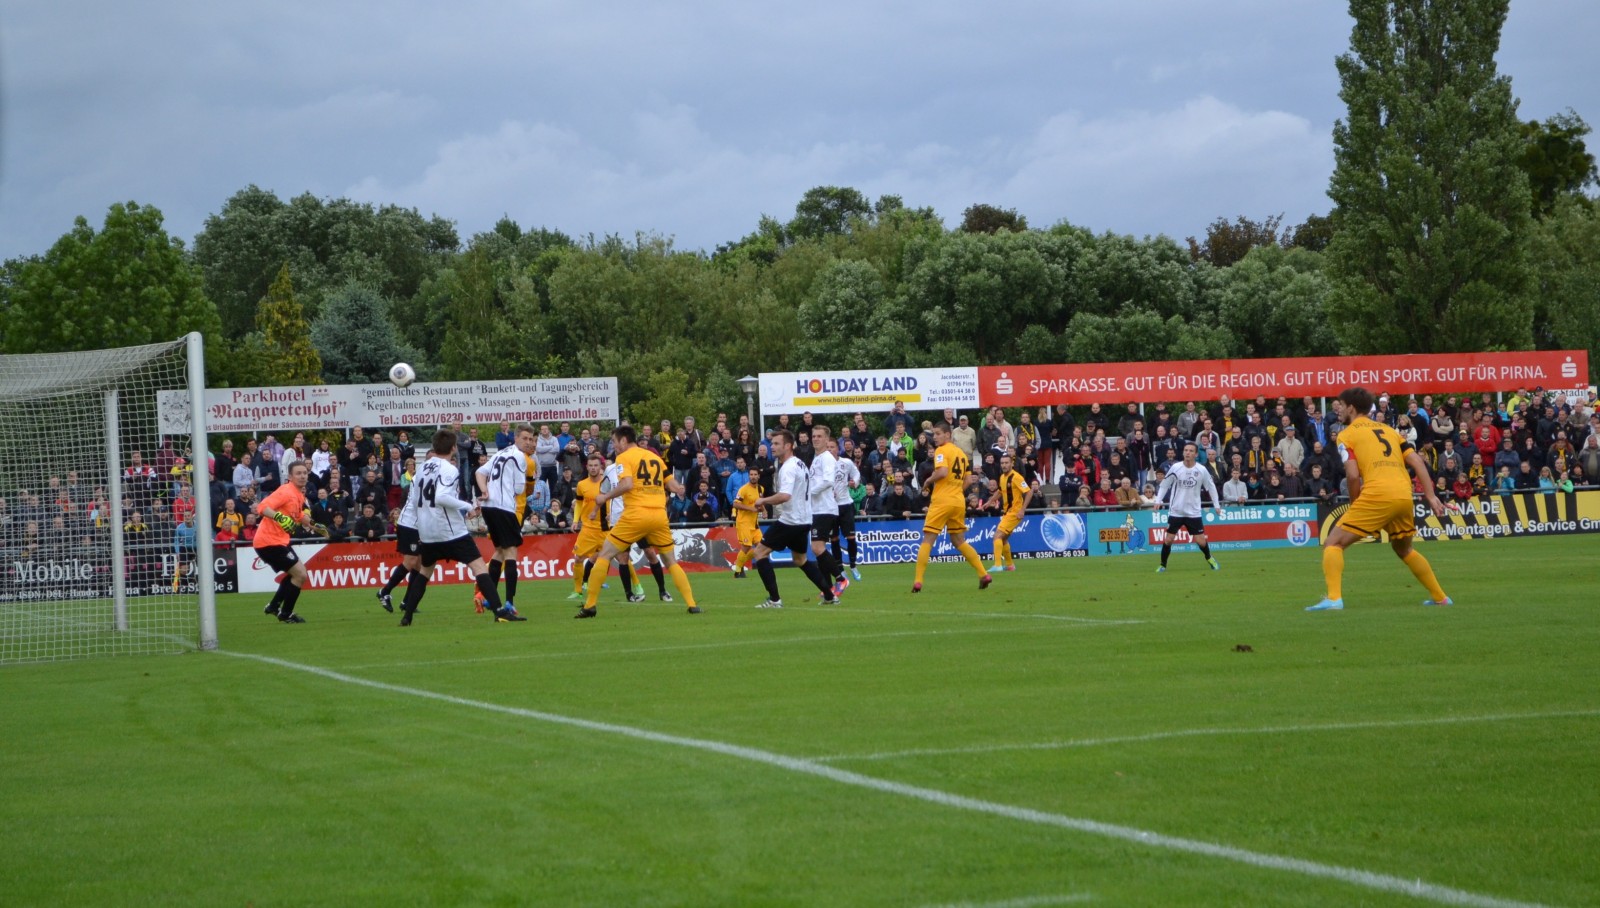
[[[1600,123],[1600,3],[1515,0],[1523,118]],[[1334,0],[0,0],[0,257],[256,184],[710,249],[824,184],[1029,224],[1326,213]],[[1592,137],[1590,144],[1595,141]]]

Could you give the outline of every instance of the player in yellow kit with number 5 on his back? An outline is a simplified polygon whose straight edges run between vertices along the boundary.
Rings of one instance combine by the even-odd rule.
[[[1411,547],[1416,537],[1414,505],[1411,502],[1411,467],[1421,480],[1422,496],[1435,516],[1445,515],[1445,505],[1434,492],[1422,456],[1400,438],[1394,428],[1366,419],[1373,409],[1373,393],[1366,388],[1347,388],[1333,404],[1344,428],[1339,430],[1339,454],[1344,457],[1344,475],[1350,486],[1350,505],[1339,523],[1328,531],[1322,544],[1322,572],[1328,580],[1328,596],[1307,612],[1338,611],[1344,607],[1344,550],[1378,531],[1389,534],[1389,545],[1411,569],[1411,574],[1427,588],[1424,606],[1448,606],[1450,596],[1434,577],[1434,568],[1422,553]]]

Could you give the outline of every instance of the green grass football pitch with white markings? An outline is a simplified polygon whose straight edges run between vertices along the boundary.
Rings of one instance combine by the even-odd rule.
[[[0,668],[0,903],[1597,905],[1597,544],[1422,550],[1454,607],[1378,545],[1328,614],[1315,550],[222,596]]]

